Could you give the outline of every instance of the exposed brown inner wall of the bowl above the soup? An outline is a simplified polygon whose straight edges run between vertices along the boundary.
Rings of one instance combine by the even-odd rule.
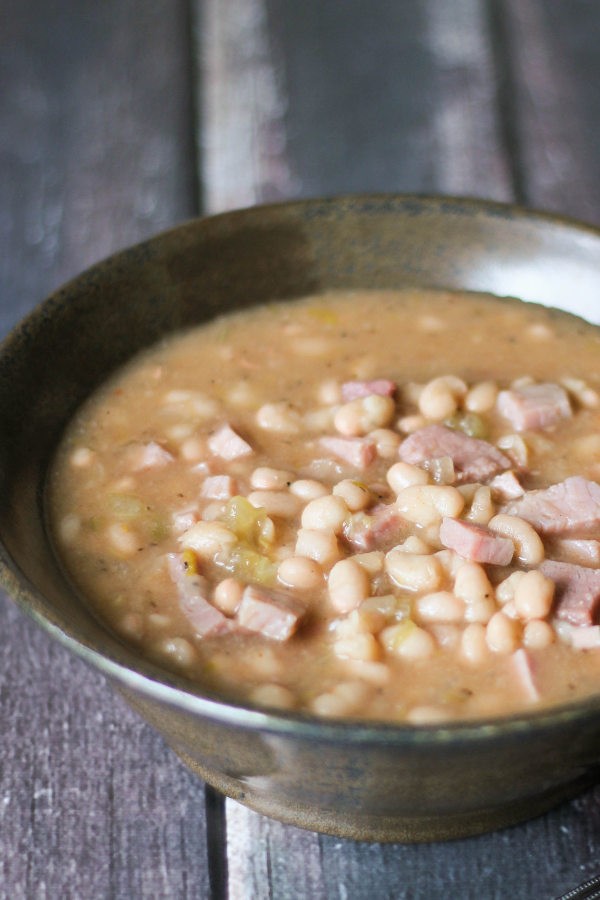
[[[492,292],[600,321],[600,234],[476,201],[350,197],[193,221],[94,266],[38,307],[0,356],[2,577],[59,639],[165,684],[104,629],[48,541],[44,483],[78,405],[135,352],[217,312],[336,288]]]

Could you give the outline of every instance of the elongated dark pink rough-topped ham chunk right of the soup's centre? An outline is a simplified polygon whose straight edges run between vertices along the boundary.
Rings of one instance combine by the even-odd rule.
[[[422,465],[430,459],[449,456],[458,481],[486,481],[511,468],[511,461],[488,441],[472,438],[444,425],[428,425],[400,444],[400,459]]]

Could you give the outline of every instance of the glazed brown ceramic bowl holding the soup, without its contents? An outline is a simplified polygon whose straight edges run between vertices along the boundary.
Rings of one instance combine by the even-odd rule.
[[[598,696],[446,726],[324,721],[203,693],[125,646],[66,583],[44,483],[78,405],[142,347],[215,312],[334,288],[490,291],[600,315],[600,232],[495,203],[359,196],[189,222],[57,291],[0,354],[0,561],[17,603],[100,669],[210,784],[305,828],[460,837],[534,816],[597,776]]]

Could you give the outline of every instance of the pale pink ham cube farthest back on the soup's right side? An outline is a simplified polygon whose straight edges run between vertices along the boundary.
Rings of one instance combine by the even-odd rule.
[[[552,383],[526,384],[511,391],[500,391],[497,407],[516,431],[547,428],[572,415],[567,392]]]

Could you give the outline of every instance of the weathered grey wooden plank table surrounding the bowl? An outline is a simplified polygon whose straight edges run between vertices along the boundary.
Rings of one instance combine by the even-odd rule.
[[[0,22],[3,332],[201,211],[390,190],[600,222],[597,0],[0,0]],[[0,602],[2,898],[551,900],[600,869],[600,788],[420,846],[223,801]]]

